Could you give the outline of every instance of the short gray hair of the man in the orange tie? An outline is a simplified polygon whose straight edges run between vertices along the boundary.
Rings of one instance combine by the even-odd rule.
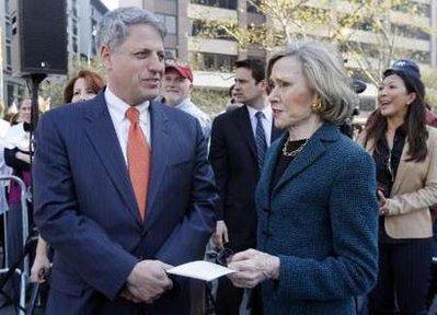
[[[165,27],[154,14],[134,7],[119,8],[107,12],[100,21],[96,36],[97,48],[103,45],[110,47],[110,49],[117,48],[129,36],[129,27],[137,24],[152,26],[164,39]]]

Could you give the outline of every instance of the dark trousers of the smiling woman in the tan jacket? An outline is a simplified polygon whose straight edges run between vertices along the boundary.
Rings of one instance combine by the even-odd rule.
[[[379,244],[378,283],[369,294],[370,315],[427,314],[432,242],[423,238]]]

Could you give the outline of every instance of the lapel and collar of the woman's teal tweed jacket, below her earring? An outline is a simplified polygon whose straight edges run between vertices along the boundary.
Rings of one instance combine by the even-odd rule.
[[[292,160],[285,170],[279,182],[273,188],[273,194],[318,161],[326,151],[325,142],[335,141],[338,137],[336,127],[329,124],[324,124],[320,127],[320,129],[310,138],[303,150],[296,155],[295,160]],[[280,151],[280,149],[281,148],[278,148],[277,151]],[[276,161],[274,162],[276,165]]]

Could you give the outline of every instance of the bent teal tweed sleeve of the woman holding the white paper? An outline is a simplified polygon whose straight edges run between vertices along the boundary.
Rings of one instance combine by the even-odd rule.
[[[377,280],[378,207],[372,159],[341,166],[330,197],[333,253],[324,260],[279,255],[279,299],[329,301],[367,293]]]

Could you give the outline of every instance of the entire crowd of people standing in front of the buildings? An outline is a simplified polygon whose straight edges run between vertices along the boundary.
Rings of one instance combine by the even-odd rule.
[[[106,13],[106,80],[79,71],[43,115],[33,178],[30,100],[4,137],[5,164],[33,179],[31,279],[49,279],[46,314],[205,314],[210,288],[166,270],[206,248],[234,271],[209,294],[217,315],[427,314],[437,130],[417,65],[383,71],[350,139],[340,126],[359,98],[330,45],[237,61],[210,119],[189,66],[165,62],[164,36],[145,10]],[[13,260],[20,191],[7,190]]]

